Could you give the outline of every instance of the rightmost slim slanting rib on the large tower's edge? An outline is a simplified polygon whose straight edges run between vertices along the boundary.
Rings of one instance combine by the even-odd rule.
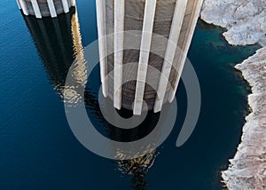
[[[187,53],[189,51],[189,48],[190,48],[190,45],[192,43],[192,37],[193,37],[193,34],[194,34],[194,30],[196,28],[197,21],[198,21],[199,16],[200,16],[200,8],[201,8],[201,5],[202,5],[202,2],[203,2],[203,0],[196,0],[195,4],[194,4],[194,7],[193,7],[192,19],[190,20],[190,24],[189,24],[190,28],[188,30],[188,34],[186,36],[186,39],[184,40],[184,43],[185,43],[184,52],[181,53],[181,58],[179,59],[180,61],[178,61],[178,63],[180,63],[180,67],[179,67],[179,69],[177,71],[178,73],[177,73],[177,76],[176,76],[174,89],[170,90],[169,99],[168,99],[169,102],[172,102],[174,100],[174,98],[175,98],[175,95],[176,95],[176,90],[177,90],[178,83],[180,81],[182,70],[184,68],[184,62],[185,62],[185,59],[186,59],[186,55],[187,55]]]

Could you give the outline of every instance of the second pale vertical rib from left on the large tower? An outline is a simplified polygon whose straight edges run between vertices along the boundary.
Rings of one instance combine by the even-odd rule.
[[[114,0],[113,107],[121,109],[125,0]]]

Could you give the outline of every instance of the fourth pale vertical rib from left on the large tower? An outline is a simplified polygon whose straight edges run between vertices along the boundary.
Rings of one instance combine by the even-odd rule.
[[[168,46],[165,53],[165,58],[160,74],[160,82],[157,89],[157,97],[154,105],[154,112],[160,112],[165,93],[168,87],[168,79],[171,73],[173,61],[175,59],[178,39],[180,36],[182,23],[184,20],[184,13],[188,0],[176,0],[176,8],[171,24],[170,34],[168,38]]]

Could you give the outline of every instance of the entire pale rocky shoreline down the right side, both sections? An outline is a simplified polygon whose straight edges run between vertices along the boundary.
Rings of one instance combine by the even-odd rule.
[[[205,0],[200,15],[207,23],[227,28],[229,44],[266,46],[265,0]],[[236,66],[252,87],[238,152],[222,172],[229,189],[266,189],[266,47]]]

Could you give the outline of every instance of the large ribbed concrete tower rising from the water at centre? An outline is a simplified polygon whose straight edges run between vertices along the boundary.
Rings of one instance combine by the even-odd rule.
[[[202,0],[97,0],[99,37],[121,31],[139,30],[142,34],[136,42],[139,49],[153,50],[160,45],[165,55],[161,58],[139,50],[116,51],[121,49],[127,40],[123,36],[114,35],[113,41],[101,41],[99,51],[103,92],[105,96],[113,99],[114,107],[124,107],[133,110],[135,115],[140,115],[143,109],[159,112],[164,103],[174,99],[201,4]],[[170,43],[157,44],[153,36],[144,36],[145,32],[165,36],[183,52]],[[108,51],[115,53],[106,57]],[[117,70],[121,65],[131,62],[136,62],[138,67],[130,71]],[[153,75],[146,68],[147,65],[156,67],[168,78],[169,84],[161,80],[160,75]],[[116,72],[106,81],[106,75],[114,68]],[[127,75],[133,75],[136,80],[122,84],[122,78]],[[151,79],[157,84],[157,89],[141,83],[141,78]],[[121,84],[122,87],[119,88]],[[148,107],[144,107],[143,101]]]

